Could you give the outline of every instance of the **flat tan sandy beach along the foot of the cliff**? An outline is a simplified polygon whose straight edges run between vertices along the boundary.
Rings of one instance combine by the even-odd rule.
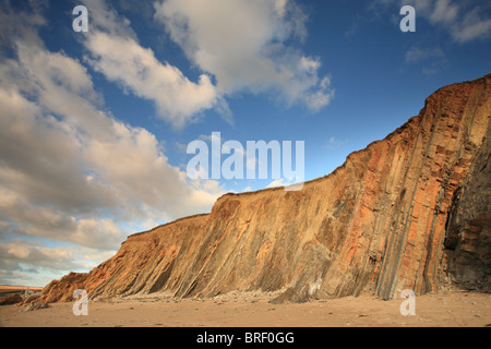
[[[404,300],[373,296],[272,304],[267,297],[226,294],[208,300],[176,300],[163,296],[88,301],[88,315],[75,316],[73,303],[25,311],[0,306],[5,327],[455,327],[491,326],[489,293],[451,291],[415,298],[416,315],[403,316]]]

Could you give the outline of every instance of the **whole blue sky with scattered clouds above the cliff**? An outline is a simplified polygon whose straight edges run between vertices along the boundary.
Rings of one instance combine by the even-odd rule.
[[[191,178],[193,141],[303,142],[311,180],[490,68],[487,1],[0,0],[0,284],[88,272],[129,234],[295,182]]]

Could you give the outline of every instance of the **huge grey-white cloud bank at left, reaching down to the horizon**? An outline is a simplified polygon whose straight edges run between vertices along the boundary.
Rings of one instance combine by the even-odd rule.
[[[13,25],[0,48],[2,280],[34,265],[67,270],[107,257],[128,233],[121,225],[209,212],[218,183],[189,183],[154,134],[104,111],[87,69],[37,36],[43,21],[0,13]],[[36,238],[77,250],[25,245]]]

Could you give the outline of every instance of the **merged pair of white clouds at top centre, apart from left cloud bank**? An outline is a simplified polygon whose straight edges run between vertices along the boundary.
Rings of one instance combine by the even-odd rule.
[[[231,123],[226,98],[240,93],[268,94],[282,105],[301,104],[312,111],[333,98],[330,77],[319,73],[320,59],[286,44],[307,36],[307,15],[292,0],[155,2],[155,19],[202,72],[195,82],[143,47],[130,21],[103,0],[83,3],[91,9],[83,40],[87,62],[124,91],[153,101],[176,129],[212,109]]]

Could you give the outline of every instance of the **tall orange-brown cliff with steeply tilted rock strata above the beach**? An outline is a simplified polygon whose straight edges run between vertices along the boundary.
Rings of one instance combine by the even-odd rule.
[[[301,191],[224,195],[209,215],[129,237],[113,257],[52,281],[43,298],[71,300],[76,288],[91,299],[283,289],[277,302],[301,302],[483,286],[490,116],[491,74],[443,87],[419,116]]]

